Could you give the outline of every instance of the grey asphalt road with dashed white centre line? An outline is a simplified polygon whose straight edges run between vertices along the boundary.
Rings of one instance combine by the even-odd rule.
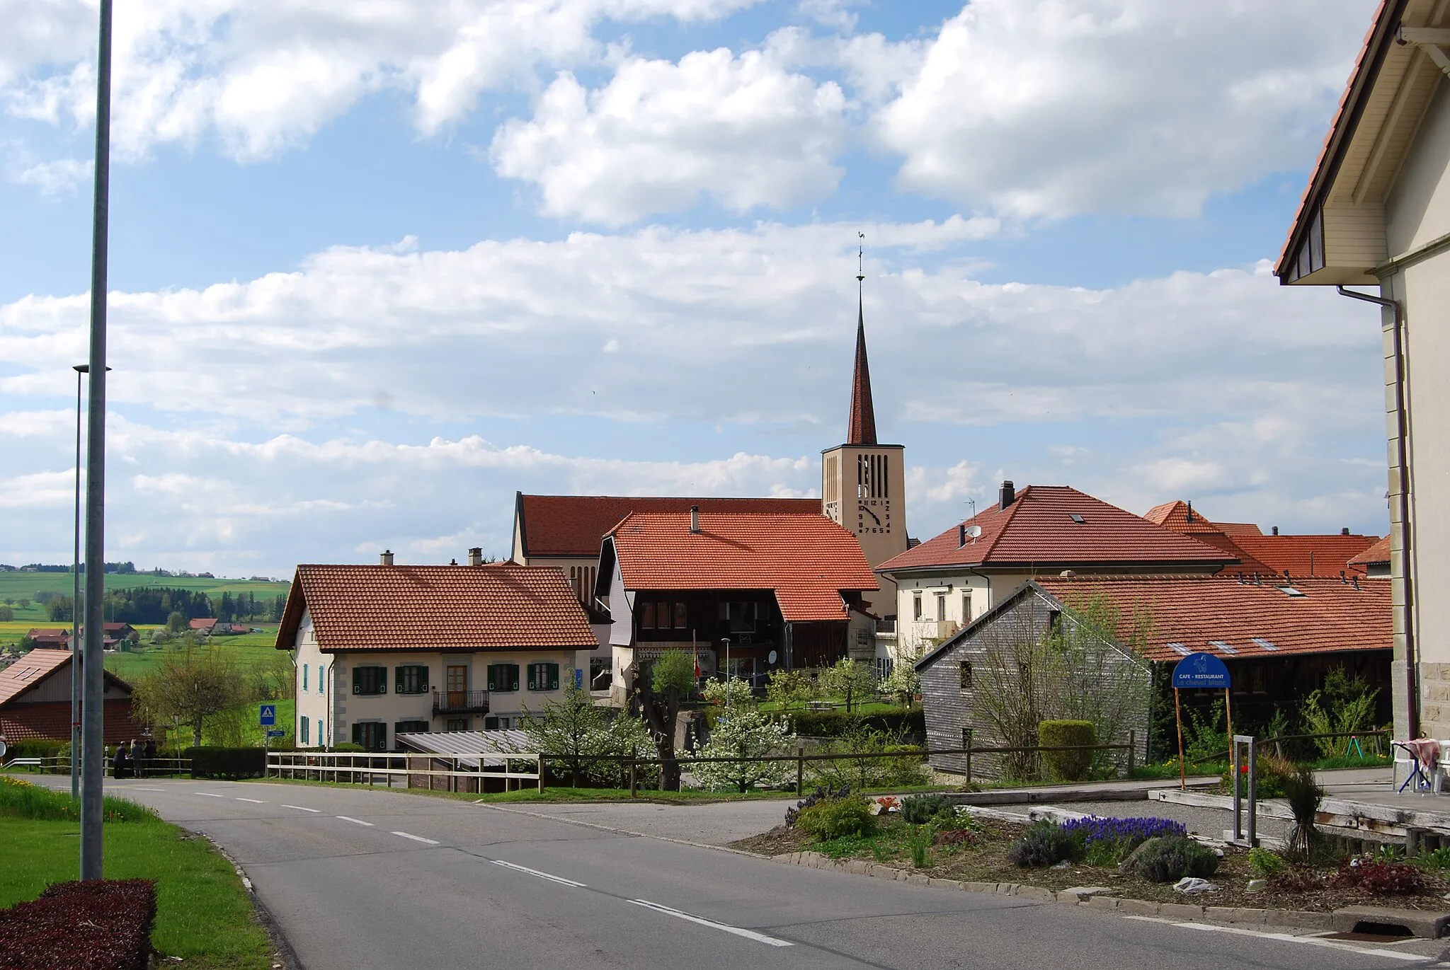
[[[222,845],[306,970],[1348,970],[1434,964],[1443,950],[1275,938],[780,866],[610,831],[563,806],[260,782],[107,787]],[[709,818],[667,811],[687,825]]]

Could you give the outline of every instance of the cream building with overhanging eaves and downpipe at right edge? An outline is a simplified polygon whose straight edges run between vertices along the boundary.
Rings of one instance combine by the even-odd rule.
[[[1282,284],[1337,286],[1379,309],[1399,737],[1450,735],[1447,52],[1443,3],[1382,0],[1275,265]]]

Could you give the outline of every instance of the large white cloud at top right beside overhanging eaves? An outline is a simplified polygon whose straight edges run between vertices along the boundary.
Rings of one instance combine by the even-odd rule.
[[[1373,6],[974,0],[876,132],[911,191],[1022,217],[1190,216],[1314,158]]]

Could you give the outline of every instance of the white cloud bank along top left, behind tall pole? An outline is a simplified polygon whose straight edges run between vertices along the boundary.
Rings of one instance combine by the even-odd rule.
[[[757,0],[152,0],[117,4],[113,144],[119,158],[216,133],[238,158],[300,144],[381,88],[429,135],[490,88],[538,67],[603,57],[605,19],[684,22]],[[0,103],[51,123],[94,117],[96,12],[86,0],[0,0]]]

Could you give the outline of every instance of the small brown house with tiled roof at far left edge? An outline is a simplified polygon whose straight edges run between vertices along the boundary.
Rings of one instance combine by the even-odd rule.
[[[141,734],[132,721],[130,684],[106,671],[103,696],[104,744]],[[71,651],[39,647],[0,670],[0,738],[71,739]]]

